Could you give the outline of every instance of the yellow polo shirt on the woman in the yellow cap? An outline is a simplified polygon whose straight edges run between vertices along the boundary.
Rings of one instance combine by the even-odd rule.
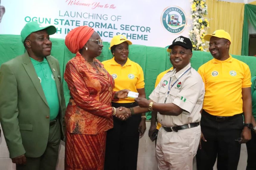
[[[115,80],[114,91],[129,89],[137,92],[137,89],[144,88],[144,74],[141,66],[138,63],[127,58],[124,66],[118,64],[114,57],[110,60],[103,61],[104,68]],[[122,98],[116,101],[117,103],[132,103],[134,98]]]

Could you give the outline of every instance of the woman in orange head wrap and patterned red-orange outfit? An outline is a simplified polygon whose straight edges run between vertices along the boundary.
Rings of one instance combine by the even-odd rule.
[[[96,59],[103,45],[93,28],[73,29],[67,34],[65,45],[76,53],[64,73],[71,96],[65,114],[65,169],[101,170],[106,131],[113,128],[112,115],[123,114],[111,107],[111,101],[127,97],[128,90],[113,91],[114,80]]]

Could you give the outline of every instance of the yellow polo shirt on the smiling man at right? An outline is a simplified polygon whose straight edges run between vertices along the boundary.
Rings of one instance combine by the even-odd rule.
[[[233,116],[243,112],[242,88],[251,87],[249,66],[230,57],[215,58],[198,69],[205,83],[203,109],[214,116]]]

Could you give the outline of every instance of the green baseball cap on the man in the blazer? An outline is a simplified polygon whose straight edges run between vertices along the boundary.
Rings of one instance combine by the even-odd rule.
[[[49,35],[55,34],[57,31],[55,26],[42,26],[42,24],[38,23],[37,21],[29,22],[26,23],[24,28],[21,30],[21,41],[24,43],[26,37],[31,33],[41,31],[43,29],[46,29]]]

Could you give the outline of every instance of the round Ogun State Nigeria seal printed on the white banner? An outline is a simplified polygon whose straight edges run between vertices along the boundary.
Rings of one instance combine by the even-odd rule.
[[[162,23],[169,32],[179,33],[187,24],[185,13],[179,7],[167,7],[163,10]]]

